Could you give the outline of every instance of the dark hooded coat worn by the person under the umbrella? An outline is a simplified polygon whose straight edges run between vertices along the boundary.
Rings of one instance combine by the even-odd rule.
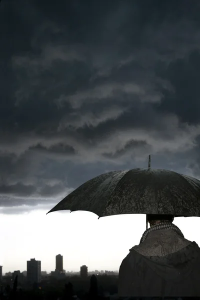
[[[200,248],[172,229],[151,231],[121,262],[118,296],[200,296]]]

